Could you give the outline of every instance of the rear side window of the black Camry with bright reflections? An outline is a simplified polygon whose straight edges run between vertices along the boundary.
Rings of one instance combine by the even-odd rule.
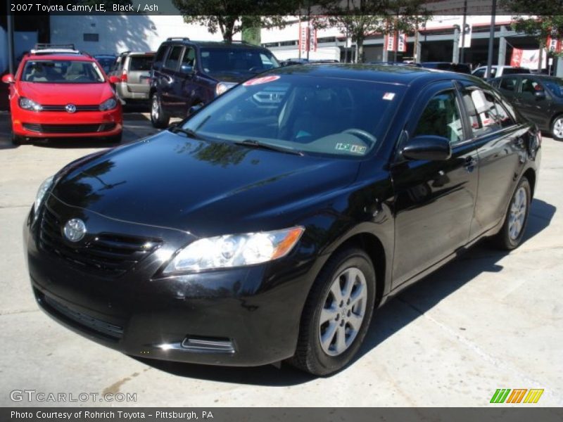
[[[464,91],[463,99],[473,136],[495,132],[514,124],[504,106],[488,91],[470,88]]]

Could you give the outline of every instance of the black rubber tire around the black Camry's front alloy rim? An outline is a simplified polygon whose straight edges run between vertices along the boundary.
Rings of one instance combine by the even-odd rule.
[[[334,296],[331,296],[331,286],[334,282],[336,282],[336,277],[349,269],[359,269],[365,276],[365,312],[360,324],[360,329],[357,330],[355,338],[350,340],[350,345],[348,345],[347,348],[340,354],[330,355],[325,352],[323,346],[321,345],[320,337],[323,330],[321,324],[321,313],[323,308],[329,303],[329,300],[331,300],[331,298],[334,299]],[[355,277],[354,279],[358,280]],[[372,319],[374,311],[375,286],[376,279],[374,267],[372,261],[363,250],[358,248],[346,248],[340,252],[336,252],[336,255],[329,259],[327,264],[325,264],[324,268],[321,270],[319,276],[317,276],[317,279],[315,280],[315,283],[308,295],[307,301],[305,302],[303,315],[301,316],[301,326],[299,329],[296,352],[293,357],[289,359],[289,364],[317,376],[329,375],[330,373],[339,371],[346,366],[350,360],[353,359],[356,352],[358,352],[358,349],[364,340],[365,334],[367,333],[367,328],[369,327],[369,322]],[[352,288],[350,292],[353,293],[355,291],[354,288]],[[327,338],[331,339],[330,347],[335,348],[336,336],[338,335],[336,331],[338,330],[338,326],[344,326],[343,324],[346,324],[343,329],[346,330],[346,328],[349,328],[346,316],[341,315],[345,315],[347,313],[349,317],[350,312],[357,312],[357,309],[354,310],[352,307],[350,307],[350,309],[346,309],[346,307],[337,309],[339,310],[336,311],[337,316],[334,318],[334,324],[336,324],[337,328],[332,330],[331,334],[327,335]],[[337,321],[341,321],[342,324],[339,324]],[[332,323],[333,320],[329,319],[324,324]],[[324,329],[329,331],[329,328]],[[325,335],[327,334],[327,331],[325,331]],[[334,346],[332,342],[334,342]]]

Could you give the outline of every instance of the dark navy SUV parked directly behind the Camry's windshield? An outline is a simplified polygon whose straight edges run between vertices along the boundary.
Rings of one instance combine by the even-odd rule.
[[[168,38],[160,44],[151,75],[151,122],[166,127],[170,117],[186,117],[239,82],[278,68],[270,52],[246,42]]]

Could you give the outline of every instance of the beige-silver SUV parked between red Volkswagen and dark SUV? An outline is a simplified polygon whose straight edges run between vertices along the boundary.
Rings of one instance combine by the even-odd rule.
[[[110,75],[119,78],[120,82],[115,84],[115,91],[122,104],[148,101],[154,55],[153,51],[125,51],[115,61]]]

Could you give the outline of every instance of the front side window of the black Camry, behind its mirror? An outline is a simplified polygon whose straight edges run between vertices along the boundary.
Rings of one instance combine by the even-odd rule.
[[[462,120],[453,90],[436,94],[426,104],[414,136],[443,136],[450,143],[463,141]]]

